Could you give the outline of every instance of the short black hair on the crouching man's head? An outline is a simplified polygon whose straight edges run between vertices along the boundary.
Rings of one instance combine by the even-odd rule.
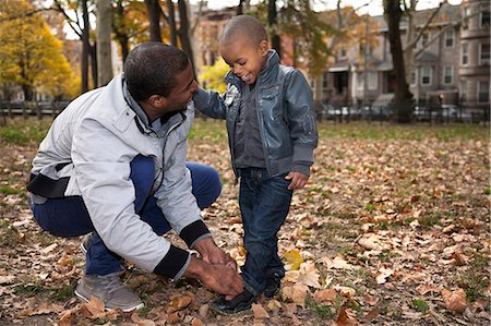
[[[131,96],[144,100],[152,95],[168,96],[176,86],[176,74],[190,64],[180,49],[158,41],[133,48],[124,61],[124,80]]]

